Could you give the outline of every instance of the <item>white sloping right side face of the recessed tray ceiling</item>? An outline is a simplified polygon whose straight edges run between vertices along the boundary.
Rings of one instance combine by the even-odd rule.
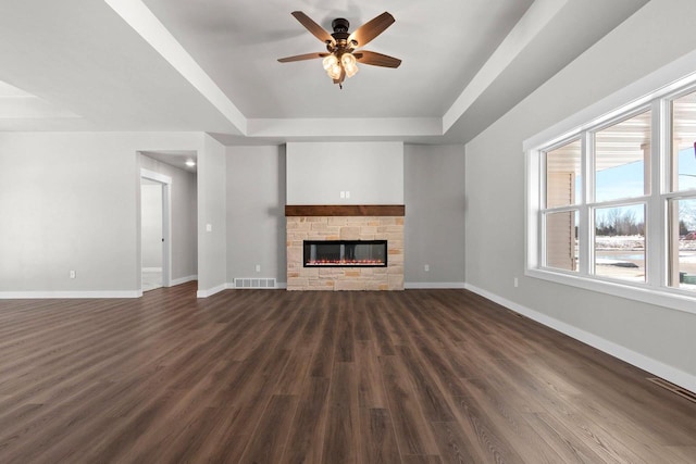
[[[512,28],[478,73],[443,116],[446,133],[484,91],[568,3],[568,0],[536,0]]]

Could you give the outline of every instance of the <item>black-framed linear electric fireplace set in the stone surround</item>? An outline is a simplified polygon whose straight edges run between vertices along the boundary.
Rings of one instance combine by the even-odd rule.
[[[386,240],[304,240],[304,267],[387,267]]]

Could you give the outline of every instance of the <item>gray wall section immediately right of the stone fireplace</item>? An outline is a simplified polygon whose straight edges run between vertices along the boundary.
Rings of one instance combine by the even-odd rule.
[[[463,286],[464,147],[407,145],[403,171],[406,286]]]

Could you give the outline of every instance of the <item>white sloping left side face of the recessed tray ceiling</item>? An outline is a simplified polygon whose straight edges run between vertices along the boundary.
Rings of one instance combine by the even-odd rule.
[[[201,92],[241,135],[247,118],[164,25],[140,0],[104,0],[136,33],[157,50],[186,80]]]

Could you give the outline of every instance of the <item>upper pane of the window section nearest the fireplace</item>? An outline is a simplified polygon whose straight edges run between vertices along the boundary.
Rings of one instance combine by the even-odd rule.
[[[581,200],[580,140],[546,153],[546,208],[568,206]]]

